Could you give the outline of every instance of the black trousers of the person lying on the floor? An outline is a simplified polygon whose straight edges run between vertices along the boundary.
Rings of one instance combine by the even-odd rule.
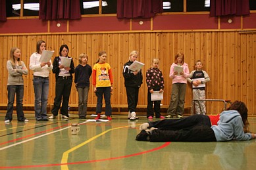
[[[149,122],[149,127],[157,127],[149,135],[151,142],[213,142],[215,133],[211,121],[205,115],[193,115],[183,119],[164,119]]]

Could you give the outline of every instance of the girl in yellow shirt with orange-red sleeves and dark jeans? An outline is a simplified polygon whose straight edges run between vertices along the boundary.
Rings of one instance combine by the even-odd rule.
[[[99,52],[99,59],[96,64],[93,66],[92,71],[92,83],[93,83],[93,91],[97,96],[97,106],[96,106],[96,114],[97,117],[95,119],[101,118],[102,111],[102,100],[103,95],[106,104],[105,115],[107,119],[112,120],[112,108],[111,108],[111,91],[113,91],[113,75],[111,66],[106,62],[107,53],[105,51]]]

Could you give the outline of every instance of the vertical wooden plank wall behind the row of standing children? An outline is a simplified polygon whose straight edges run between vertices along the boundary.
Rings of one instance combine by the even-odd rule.
[[[93,66],[99,51],[107,51],[107,62],[111,64],[114,73],[114,91],[112,104],[126,104],[126,91],[122,66],[128,61],[132,50],[140,52],[138,60],[144,62],[143,85],[140,89],[139,103],[147,104],[147,86],[145,72],[150,67],[153,58],[160,59],[160,69],[165,78],[165,93],[163,104],[168,105],[172,88],[172,80],[168,78],[170,65],[178,51],[185,54],[185,62],[189,64],[190,72],[194,69],[196,60],[203,62],[203,70],[209,74],[211,81],[207,83],[207,98],[242,100],[249,108],[249,114],[256,114],[256,82],[255,56],[256,33],[230,32],[149,32],[149,33],[77,33],[49,35],[1,35],[0,36],[0,103],[7,104],[7,68],[11,47],[19,47],[22,60],[29,68],[30,55],[36,51],[36,42],[43,39],[48,50],[54,50],[54,56],[59,54],[59,47],[67,44],[75,66],[78,65],[78,55],[87,53],[88,63]],[[53,61],[53,59],[52,59]],[[34,103],[34,88],[32,71],[24,76],[24,104]],[[55,75],[50,74],[49,104],[55,97]],[[186,105],[191,105],[192,88],[190,84],[186,91]],[[78,104],[78,95],[74,84],[70,95],[70,104]],[[90,89],[88,104],[96,104],[96,96]],[[207,102],[207,113],[217,114],[222,110],[222,103]]]

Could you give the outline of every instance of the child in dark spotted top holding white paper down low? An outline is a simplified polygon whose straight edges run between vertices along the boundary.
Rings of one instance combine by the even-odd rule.
[[[151,94],[154,93],[154,91],[159,91],[159,93],[163,94],[164,90],[164,77],[159,70],[159,59],[154,58],[152,60],[151,68],[147,70],[146,73],[146,81],[147,81],[147,118],[153,119],[154,111],[155,111],[155,117],[160,119],[165,119],[165,117],[161,116],[160,114],[160,104],[161,100],[155,100],[152,101]],[[153,110],[153,104],[154,104],[154,110]]]

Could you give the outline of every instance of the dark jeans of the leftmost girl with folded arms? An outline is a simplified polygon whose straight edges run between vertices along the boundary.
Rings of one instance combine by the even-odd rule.
[[[23,96],[24,96],[24,85],[8,85],[8,104],[7,104],[7,114],[5,116],[5,120],[13,119],[13,104],[14,97],[16,94],[16,110],[17,110],[17,119],[18,121],[24,121],[26,117],[24,117],[24,112],[22,109],[23,106]]]

